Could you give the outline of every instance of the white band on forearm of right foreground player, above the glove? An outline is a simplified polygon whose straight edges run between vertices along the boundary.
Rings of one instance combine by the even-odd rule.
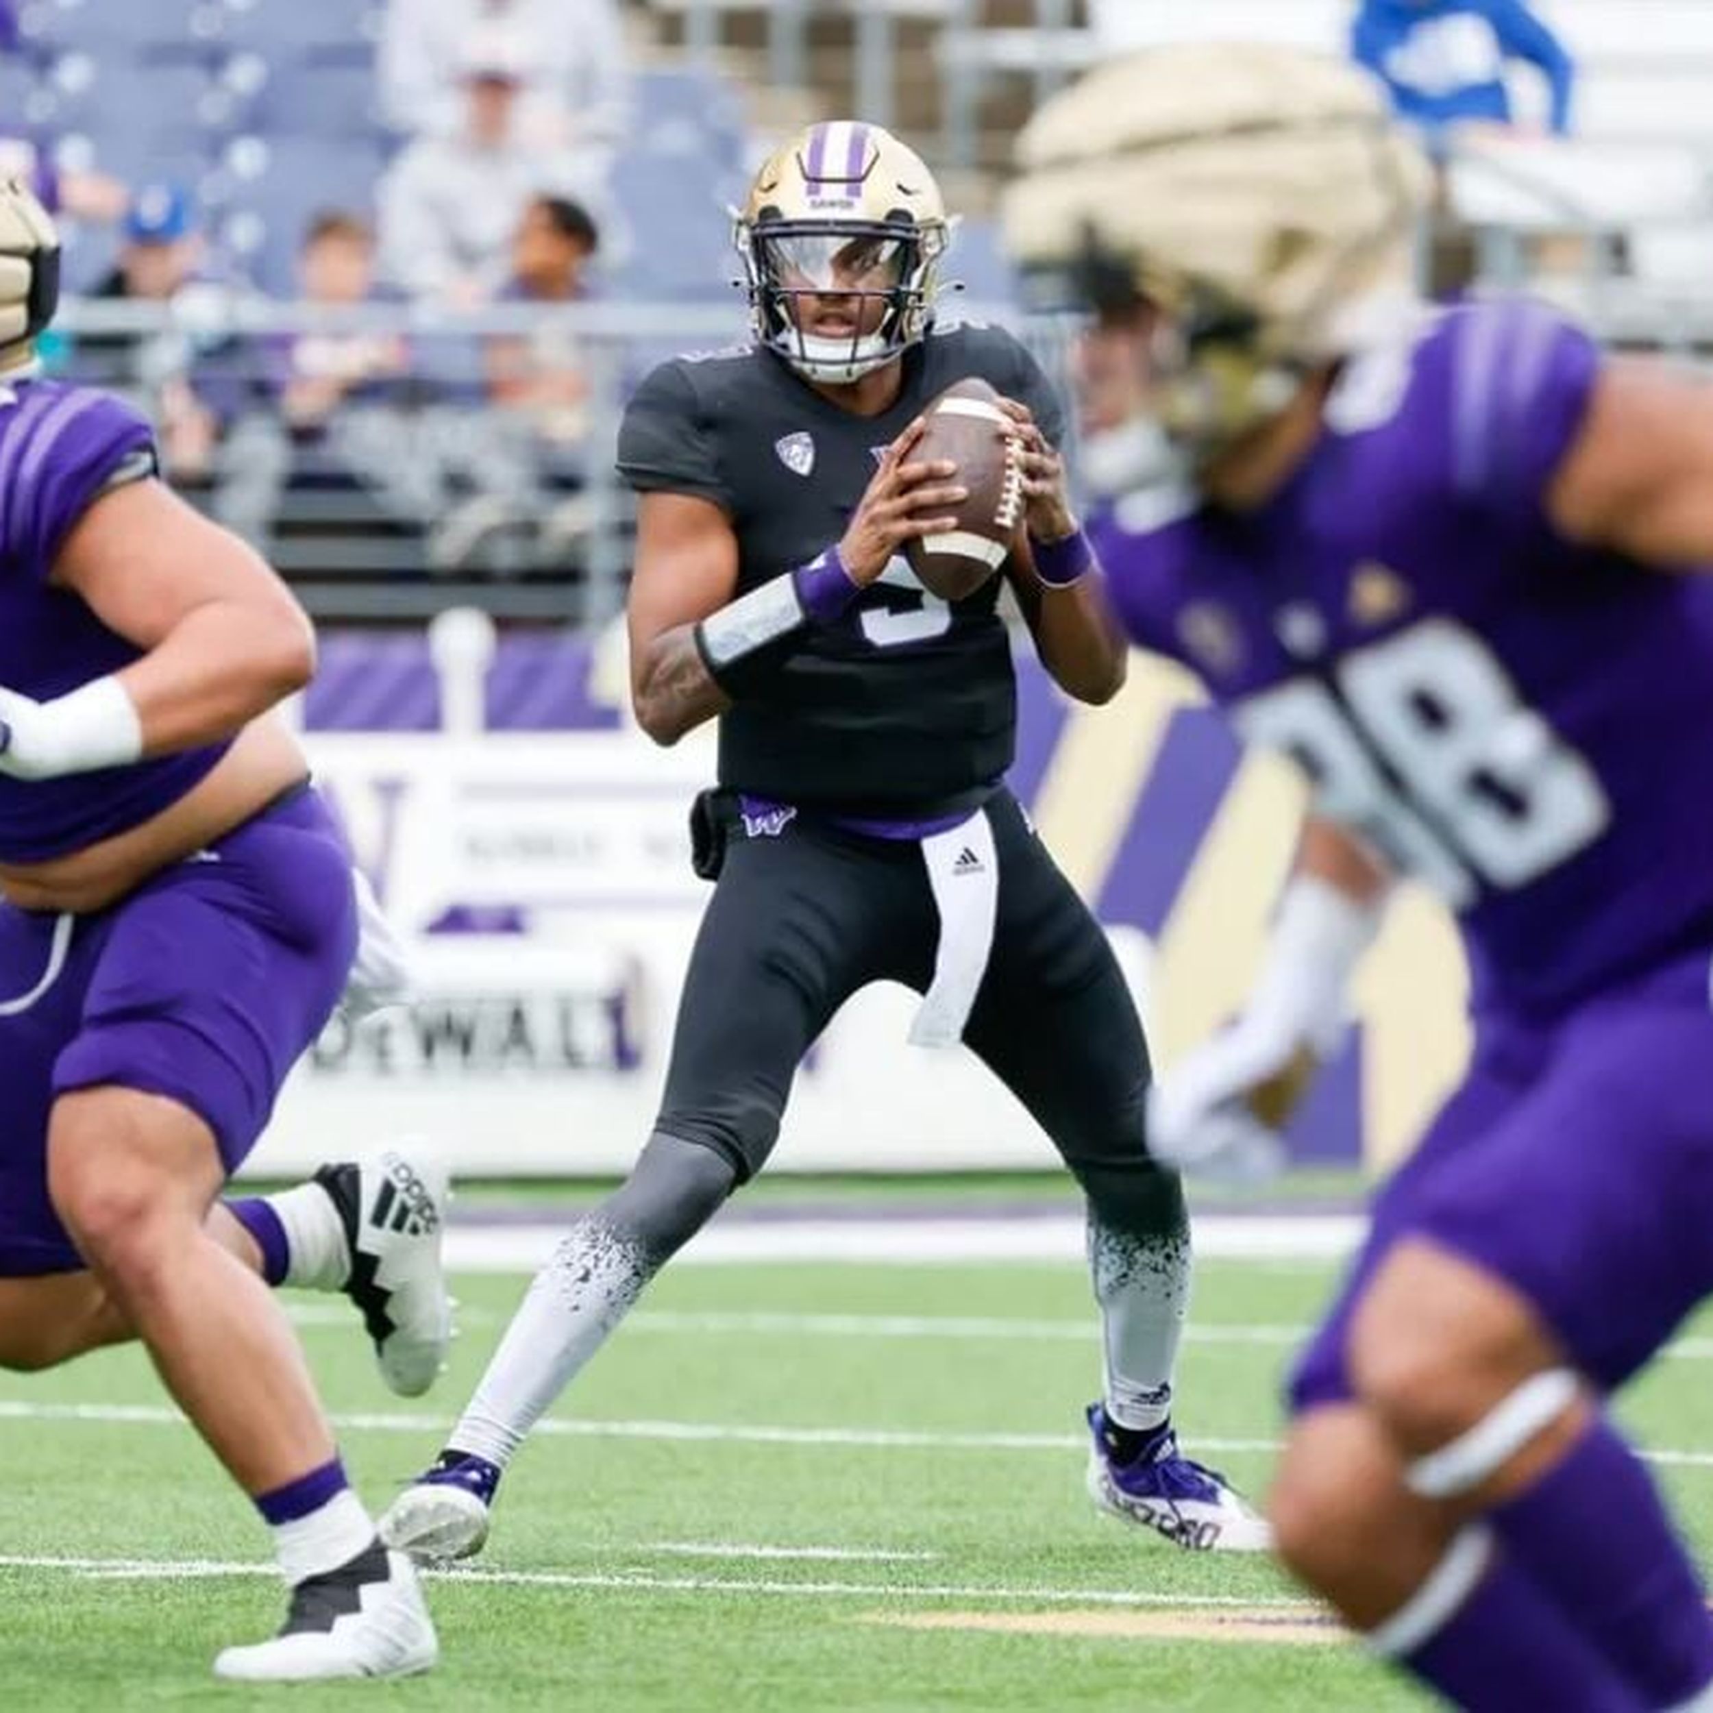
[[[1331,1052],[1345,1031],[1345,988],[1381,915],[1381,903],[1360,903],[1312,874],[1295,875],[1280,896],[1244,1016],[1278,1040]]]

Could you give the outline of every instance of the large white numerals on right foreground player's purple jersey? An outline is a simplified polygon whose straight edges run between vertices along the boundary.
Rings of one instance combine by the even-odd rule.
[[[1471,630],[1434,618],[1235,711],[1295,757],[1316,812],[1370,839],[1463,910],[1528,886],[1612,819],[1593,769],[1518,697]]]

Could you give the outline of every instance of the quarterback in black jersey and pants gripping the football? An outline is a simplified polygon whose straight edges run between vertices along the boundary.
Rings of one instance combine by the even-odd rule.
[[[1105,702],[1125,649],[1069,512],[1059,401],[1009,334],[934,325],[949,226],[927,166],[872,125],[810,127],[738,221],[755,343],[641,385],[618,468],[641,495],[632,699],[671,743],[719,721],[697,802],[716,879],[654,1134],[536,1280],[387,1540],[463,1557],[541,1412],[648,1280],[766,1161],[791,1077],[870,982],[923,995],[911,1038],[963,1040],[1081,1182],[1105,1334],[1089,1490],[1184,1547],[1257,1550],[1266,1525],[1172,1432],[1189,1286],[1175,1173],[1144,1141],[1148,1048],[1107,939],[1006,788],[1009,588],[1047,670]],[[956,528],[956,466],[922,411],[990,382],[1021,442],[1026,533],[1002,576],[942,601],[906,545]]]

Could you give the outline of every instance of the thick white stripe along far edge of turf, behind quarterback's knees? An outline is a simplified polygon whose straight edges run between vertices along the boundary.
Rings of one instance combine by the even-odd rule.
[[[447,1266],[459,1273],[533,1273],[570,1221],[454,1225]],[[1362,1240],[1360,1215],[1203,1215],[1194,1223],[1201,1259],[1336,1261]],[[716,1221],[673,1259],[685,1264],[862,1261],[896,1266],[958,1261],[1081,1261],[1083,1220],[731,1220]]]

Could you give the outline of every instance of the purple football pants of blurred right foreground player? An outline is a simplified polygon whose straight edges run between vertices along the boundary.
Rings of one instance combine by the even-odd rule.
[[[1290,1384],[1353,1396],[1364,1286],[1400,1238],[1507,1281],[1603,1391],[1713,1292],[1713,987],[1699,952],[1552,1021],[1477,1019],[1463,1086],[1381,1191],[1357,1264]]]

